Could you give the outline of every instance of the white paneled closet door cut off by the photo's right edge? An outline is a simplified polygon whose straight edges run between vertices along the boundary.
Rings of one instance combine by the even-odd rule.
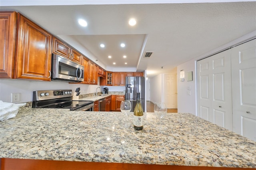
[[[233,130],[256,141],[256,40],[231,50]]]

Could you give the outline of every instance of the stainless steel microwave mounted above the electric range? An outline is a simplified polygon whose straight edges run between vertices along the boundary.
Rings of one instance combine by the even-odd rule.
[[[84,81],[84,66],[79,65],[61,55],[52,54],[52,80]]]

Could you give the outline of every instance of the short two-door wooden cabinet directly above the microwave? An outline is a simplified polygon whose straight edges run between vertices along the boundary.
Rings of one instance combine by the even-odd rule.
[[[56,37],[53,37],[52,52],[66,57],[76,63],[82,64],[82,54],[75,49],[72,49],[72,47],[70,47],[65,42],[58,40]]]

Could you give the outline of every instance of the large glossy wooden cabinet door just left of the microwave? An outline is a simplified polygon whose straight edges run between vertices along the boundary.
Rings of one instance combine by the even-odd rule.
[[[50,81],[52,35],[18,14],[17,79]]]

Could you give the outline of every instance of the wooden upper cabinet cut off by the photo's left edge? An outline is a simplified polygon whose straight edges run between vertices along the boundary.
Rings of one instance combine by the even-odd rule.
[[[14,78],[16,12],[0,12],[0,78]]]

